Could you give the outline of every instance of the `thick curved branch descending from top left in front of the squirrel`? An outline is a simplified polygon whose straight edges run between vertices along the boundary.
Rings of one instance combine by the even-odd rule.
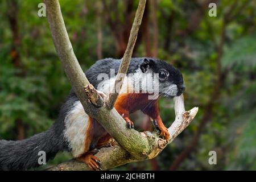
[[[138,131],[127,129],[126,122],[115,109],[109,110],[106,105],[98,108],[91,104],[93,102],[89,102],[84,91],[84,86],[89,85],[89,81],[84,72],[82,72],[73,52],[61,15],[59,1],[44,0],[44,2],[46,3],[47,18],[53,43],[63,64],[64,71],[85,112],[92,118],[97,119],[105,130],[131,155],[136,158],[146,158],[146,154],[150,152],[147,139],[143,138]],[[95,98],[94,101],[96,100]]]

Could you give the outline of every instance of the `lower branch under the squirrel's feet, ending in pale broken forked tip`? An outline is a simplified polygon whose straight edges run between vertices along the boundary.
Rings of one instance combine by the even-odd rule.
[[[195,118],[198,107],[194,107],[189,111],[184,111],[184,101],[183,97],[174,98],[174,107],[176,118],[174,123],[169,127],[171,134],[168,144],[170,144],[188,125],[191,123],[193,118]],[[144,138],[150,140],[150,145],[152,146],[152,151],[147,155],[147,159],[155,158],[160,151],[166,147],[166,140],[159,138],[158,133],[149,131],[144,131],[141,133]],[[145,159],[136,159],[130,155],[126,150],[120,146],[112,146],[108,148],[101,148],[100,152],[96,154],[97,158],[101,160],[101,168],[112,169],[118,166],[122,166],[131,162],[138,162]],[[86,164],[78,162],[75,159],[69,160],[68,162],[61,163],[57,166],[48,168],[51,171],[63,171],[63,170],[90,170]]]

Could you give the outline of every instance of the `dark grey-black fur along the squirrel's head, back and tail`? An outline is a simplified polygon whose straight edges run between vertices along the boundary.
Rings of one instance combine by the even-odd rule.
[[[183,85],[182,75],[177,69],[164,61],[152,58],[141,57],[131,59],[127,74],[134,73],[142,64],[147,64],[147,61],[150,62],[149,66],[155,73],[158,73],[160,68],[165,68],[172,74],[172,81],[177,85]],[[121,60],[111,58],[98,60],[85,72],[85,75],[89,82],[97,88],[101,82],[101,80],[97,80],[97,75],[106,73],[110,77],[110,68],[115,69],[115,75],[117,75],[120,64]],[[71,148],[68,148],[68,143],[64,138],[64,119],[68,112],[72,110],[73,104],[76,101],[78,101],[78,98],[73,90],[71,90],[67,101],[61,107],[59,118],[47,131],[24,140],[0,140],[0,169],[26,170],[38,167],[39,151],[46,152],[47,160],[53,158],[58,151],[70,151]]]

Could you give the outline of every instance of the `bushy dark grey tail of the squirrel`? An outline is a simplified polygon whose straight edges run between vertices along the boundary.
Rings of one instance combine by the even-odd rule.
[[[26,170],[38,167],[42,164],[40,161],[43,161],[44,154],[47,161],[64,149],[64,137],[55,131],[54,125],[28,139],[0,140],[0,170]]]

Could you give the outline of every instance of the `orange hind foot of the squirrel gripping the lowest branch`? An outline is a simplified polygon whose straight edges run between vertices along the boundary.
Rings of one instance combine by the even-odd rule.
[[[87,164],[87,166],[90,169],[94,171],[101,171],[102,168],[100,167],[100,164],[101,164],[100,159],[94,156],[95,154],[97,154],[98,151],[99,150],[95,149],[95,150],[86,152],[84,155],[77,158],[77,160],[84,162],[85,164]]]

